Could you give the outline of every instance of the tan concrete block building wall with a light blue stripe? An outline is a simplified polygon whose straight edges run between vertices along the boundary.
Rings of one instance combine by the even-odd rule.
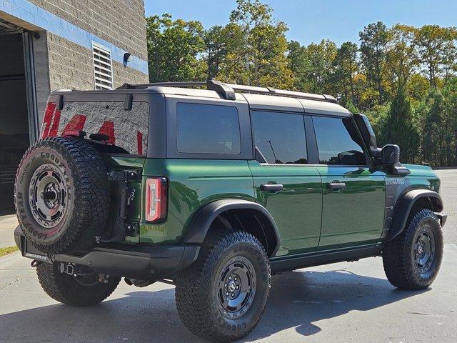
[[[93,42],[111,51],[115,87],[149,81],[142,0],[0,0],[0,17],[46,31],[51,91],[94,89]]]

